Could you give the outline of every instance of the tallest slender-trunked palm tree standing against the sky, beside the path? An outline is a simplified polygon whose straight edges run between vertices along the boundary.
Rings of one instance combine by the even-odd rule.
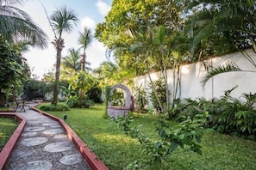
[[[58,102],[58,94],[59,94],[59,70],[60,70],[60,62],[61,62],[61,52],[64,46],[64,39],[62,38],[62,33],[71,33],[73,30],[73,24],[77,25],[78,17],[76,12],[73,9],[67,9],[66,6],[63,6],[57,9],[53,15],[50,16],[51,26],[53,28],[53,33],[55,35],[55,39],[53,40],[53,46],[55,47],[56,54],[56,74],[55,74],[55,82],[53,88],[53,104],[57,104]]]

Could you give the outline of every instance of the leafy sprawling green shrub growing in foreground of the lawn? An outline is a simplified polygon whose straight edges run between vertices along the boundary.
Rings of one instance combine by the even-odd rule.
[[[165,116],[159,115],[155,123],[156,131],[159,134],[159,139],[156,141],[145,136],[139,129],[140,125],[131,125],[134,121],[133,117],[118,117],[113,120],[123,127],[123,131],[126,135],[140,142],[144,148],[144,153],[150,157],[150,159],[144,163],[146,163],[150,169],[157,170],[162,168],[164,161],[178,149],[178,146],[184,149],[186,145],[188,146],[186,149],[202,155],[202,146],[200,143],[203,137],[203,124],[208,116],[208,112],[204,112],[203,114],[197,114],[194,119],[187,117],[180,124],[170,125],[170,123],[165,121]],[[135,169],[138,169],[138,163],[139,162],[134,165],[136,167],[134,167]],[[142,163],[142,166],[144,163]]]

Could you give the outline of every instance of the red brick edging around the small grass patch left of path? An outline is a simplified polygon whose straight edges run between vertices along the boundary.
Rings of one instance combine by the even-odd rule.
[[[0,112],[0,117],[15,117],[18,118],[20,121],[20,124],[16,128],[16,131],[12,134],[11,137],[9,137],[8,142],[4,145],[1,153],[0,153],[0,169],[3,169],[9,160],[9,156],[11,154],[11,151],[14,149],[16,146],[16,142],[18,141],[19,137],[22,134],[22,131],[26,125],[26,119],[16,115],[15,113],[3,113]]]

